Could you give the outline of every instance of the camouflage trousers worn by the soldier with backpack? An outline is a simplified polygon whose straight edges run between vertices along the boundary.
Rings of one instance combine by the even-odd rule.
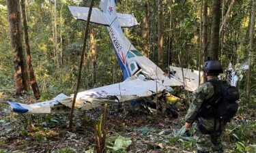
[[[202,152],[223,153],[221,133],[215,134],[215,141],[213,139],[213,136],[214,135],[201,133],[198,126],[196,126],[194,138],[195,141],[197,142],[197,150],[200,150]]]

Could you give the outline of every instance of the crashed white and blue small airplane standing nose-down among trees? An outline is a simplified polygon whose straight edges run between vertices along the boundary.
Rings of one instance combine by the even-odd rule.
[[[89,7],[69,6],[69,9],[76,20],[87,21]],[[184,86],[185,90],[189,91],[198,87],[199,71],[170,67],[170,70],[176,73],[169,75],[134,48],[124,35],[122,28],[134,27],[138,22],[132,14],[117,13],[115,0],[101,0],[100,9],[96,7],[92,9],[90,22],[106,26],[122,69],[124,82],[79,92],[75,109],[89,110],[100,107],[104,103],[121,101],[141,99],[148,101],[148,99],[154,99],[156,95],[164,94],[171,86]],[[51,101],[41,103],[23,104],[12,101],[8,103],[12,111],[19,114],[55,114],[70,109],[72,97],[72,95],[68,97],[60,94]]]

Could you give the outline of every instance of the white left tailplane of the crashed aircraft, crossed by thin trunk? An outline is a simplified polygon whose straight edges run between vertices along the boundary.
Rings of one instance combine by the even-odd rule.
[[[87,21],[89,7],[68,6],[68,8],[76,20]],[[90,22],[109,26],[108,20],[106,20],[104,14],[97,7],[92,8]]]

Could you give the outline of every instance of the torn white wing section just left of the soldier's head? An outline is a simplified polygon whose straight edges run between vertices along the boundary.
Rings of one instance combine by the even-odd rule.
[[[174,72],[173,76],[182,82],[185,90],[194,91],[199,86],[199,71],[191,71],[190,69],[182,69],[181,67],[169,67]],[[183,70],[183,75],[182,75]],[[203,81],[203,73],[201,72],[201,81]],[[184,77],[184,79],[183,79]],[[201,83],[201,82],[200,82]]]

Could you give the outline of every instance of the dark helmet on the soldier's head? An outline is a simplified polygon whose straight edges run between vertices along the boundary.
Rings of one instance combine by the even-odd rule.
[[[223,67],[218,61],[206,61],[203,65],[203,71],[207,74],[223,73]]]

